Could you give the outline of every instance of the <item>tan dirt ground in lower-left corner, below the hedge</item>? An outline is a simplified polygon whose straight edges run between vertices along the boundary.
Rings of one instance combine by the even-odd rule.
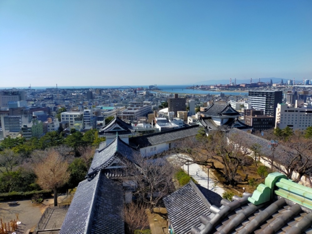
[[[70,202],[72,197],[73,194],[60,196],[58,197],[58,203]],[[3,223],[6,222],[6,225],[14,219],[21,222],[17,225],[18,230],[15,232],[23,234],[28,229],[33,230],[36,227],[46,207],[53,204],[53,198],[46,199],[41,204],[32,203],[31,200],[17,200],[17,202],[17,205],[8,205],[8,202],[0,202],[0,218]]]

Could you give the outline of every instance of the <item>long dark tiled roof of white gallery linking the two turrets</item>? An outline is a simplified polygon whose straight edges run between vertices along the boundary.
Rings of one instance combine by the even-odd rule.
[[[139,146],[139,148],[144,148],[147,146],[171,142],[189,136],[195,136],[198,133],[199,129],[199,125],[193,125],[165,132],[147,134],[138,137],[130,137],[129,144],[133,146]]]

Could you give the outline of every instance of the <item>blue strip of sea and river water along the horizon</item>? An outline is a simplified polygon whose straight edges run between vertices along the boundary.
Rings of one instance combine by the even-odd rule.
[[[218,91],[218,90],[199,90],[199,89],[188,89],[188,87],[191,87],[192,85],[157,85],[157,88],[161,92],[166,93],[177,93],[177,94],[201,94],[201,95],[219,95],[221,93],[224,93],[225,95],[233,95],[233,96],[248,96],[248,92],[246,91]],[[134,85],[134,86],[57,86],[58,89],[119,89],[119,90],[125,90],[125,89],[148,89],[148,85]],[[4,89],[29,89],[29,87],[0,87],[0,90]],[[38,87],[31,87],[32,90],[45,90],[50,88],[56,88],[56,86],[38,86]],[[153,93],[157,93],[158,90],[152,91]]]

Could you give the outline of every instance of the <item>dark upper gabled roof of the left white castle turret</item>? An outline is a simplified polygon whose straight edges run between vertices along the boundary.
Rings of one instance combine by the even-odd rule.
[[[110,121],[103,129],[99,131],[100,135],[116,135],[118,132],[119,135],[131,134],[134,133],[134,129],[131,124],[125,123],[123,120],[119,119],[117,116]]]

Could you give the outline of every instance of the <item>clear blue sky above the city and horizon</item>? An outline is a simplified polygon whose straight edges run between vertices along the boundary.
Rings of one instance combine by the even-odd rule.
[[[0,0],[0,87],[312,79],[311,0]]]

